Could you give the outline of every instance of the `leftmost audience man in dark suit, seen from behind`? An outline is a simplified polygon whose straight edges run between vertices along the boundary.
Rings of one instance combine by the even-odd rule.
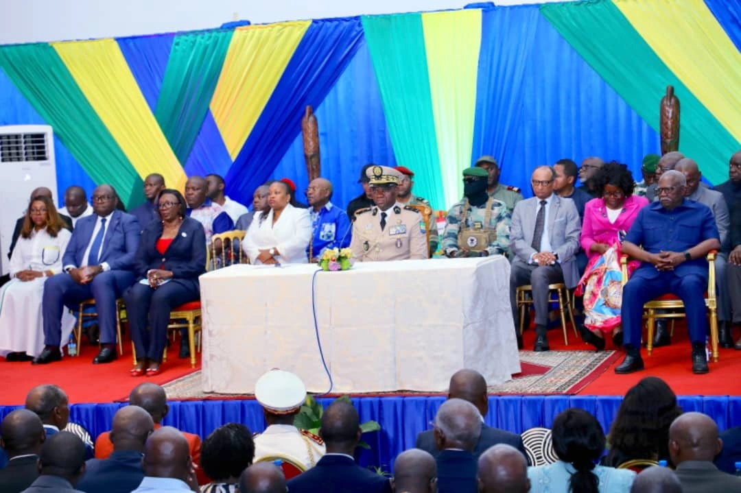
[[[27,409],[16,409],[2,420],[0,444],[8,457],[7,466],[0,469],[0,493],[19,493],[37,477],[41,445],[46,439],[38,416]]]

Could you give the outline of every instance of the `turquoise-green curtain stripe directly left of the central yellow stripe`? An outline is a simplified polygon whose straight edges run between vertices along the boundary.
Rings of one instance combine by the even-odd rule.
[[[414,171],[416,195],[427,198],[436,209],[447,207],[439,179],[422,16],[363,16],[361,20],[396,162]]]

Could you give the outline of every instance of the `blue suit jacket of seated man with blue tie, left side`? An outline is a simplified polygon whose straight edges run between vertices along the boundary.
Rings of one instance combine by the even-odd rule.
[[[70,243],[62,258],[62,265],[82,267],[85,250],[93,238],[98,215],[80,218],[72,232]],[[139,222],[133,215],[114,210],[107,225],[99,263],[107,262],[111,270],[130,270],[134,264],[136,247],[139,246]]]

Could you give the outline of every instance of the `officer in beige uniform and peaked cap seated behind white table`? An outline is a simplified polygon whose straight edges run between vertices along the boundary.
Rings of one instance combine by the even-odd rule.
[[[402,174],[393,168],[367,170],[376,204],[355,214],[350,248],[358,261],[428,258],[427,225],[413,207],[396,201]]]

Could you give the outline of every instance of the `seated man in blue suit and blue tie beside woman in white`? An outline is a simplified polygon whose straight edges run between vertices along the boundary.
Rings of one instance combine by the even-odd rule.
[[[74,307],[89,298],[96,302],[101,342],[93,363],[116,359],[116,298],[134,282],[134,255],[142,230],[133,215],[116,210],[117,197],[110,185],[93,191],[93,215],[77,221],[62,258],[64,272],[44,284],[45,347],[33,364],[62,359],[59,344],[64,305]]]

